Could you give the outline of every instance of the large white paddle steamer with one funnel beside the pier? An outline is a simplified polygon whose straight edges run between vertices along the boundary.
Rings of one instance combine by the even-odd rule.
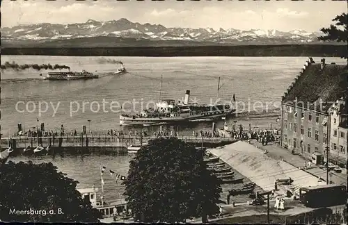
[[[218,96],[219,88],[221,88],[220,78],[218,85]],[[189,96],[190,91],[187,90],[183,102],[176,102],[173,99],[161,100],[161,91],[159,91],[159,101],[158,103],[156,103],[156,108],[148,108],[142,110],[140,115],[121,114],[120,125],[147,126],[150,124],[159,124],[162,122],[175,123],[185,121],[196,121],[197,119],[214,119],[219,117],[226,117],[226,115],[231,115],[235,113],[235,109],[232,108],[232,98],[229,104],[216,103],[212,105],[189,103]]]

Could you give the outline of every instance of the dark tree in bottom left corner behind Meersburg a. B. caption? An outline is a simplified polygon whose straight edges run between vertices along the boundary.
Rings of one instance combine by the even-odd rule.
[[[0,164],[1,221],[98,222],[100,212],[82,199],[76,189],[78,181],[56,169],[52,163],[31,161]],[[14,210],[25,212],[21,215]]]

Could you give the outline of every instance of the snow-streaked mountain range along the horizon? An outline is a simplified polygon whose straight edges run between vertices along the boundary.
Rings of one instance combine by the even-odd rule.
[[[1,41],[30,43],[62,43],[74,39],[88,40],[107,37],[107,40],[132,42],[184,41],[191,44],[306,44],[315,43],[319,32],[258,30],[242,31],[235,28],[166,28],[161,24],[139,24],[122,18],[108,22],[88,19],[75,24],[28,24],[1,28]],[[87,43],[88,44],[88,43]]]

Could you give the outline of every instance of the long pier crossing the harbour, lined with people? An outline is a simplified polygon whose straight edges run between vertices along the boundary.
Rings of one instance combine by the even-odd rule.
[[[1,149],[12,147],[15,149],[14,153],[19,153],[25,147],[35,148],[39,144],[42,147],[51,146],[52,149],[57,151],[95,151],[95,152],[127,152],[127,147],[132,144],[143,144],[147,143],[155,138],[171,138],[171,136],[141,136],[141,135],[62,135],[62,136],[49,136],[49,137],[28,137],[28,136],[17,136],[13,138],[1,138]],[[207,147],[214,148],[220,147],[225,144],[233,142],[232,138],[227,137],[194,137],[194,136],[177,136],[184,142],[194,144],[196,147]]]

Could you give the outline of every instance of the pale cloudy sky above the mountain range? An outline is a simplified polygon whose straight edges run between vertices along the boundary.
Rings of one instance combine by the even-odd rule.
[[[10,1],[1,2],[1,26],[73,24],[127,18],[166,27],[319,31],[347,12],[346,1]]]

